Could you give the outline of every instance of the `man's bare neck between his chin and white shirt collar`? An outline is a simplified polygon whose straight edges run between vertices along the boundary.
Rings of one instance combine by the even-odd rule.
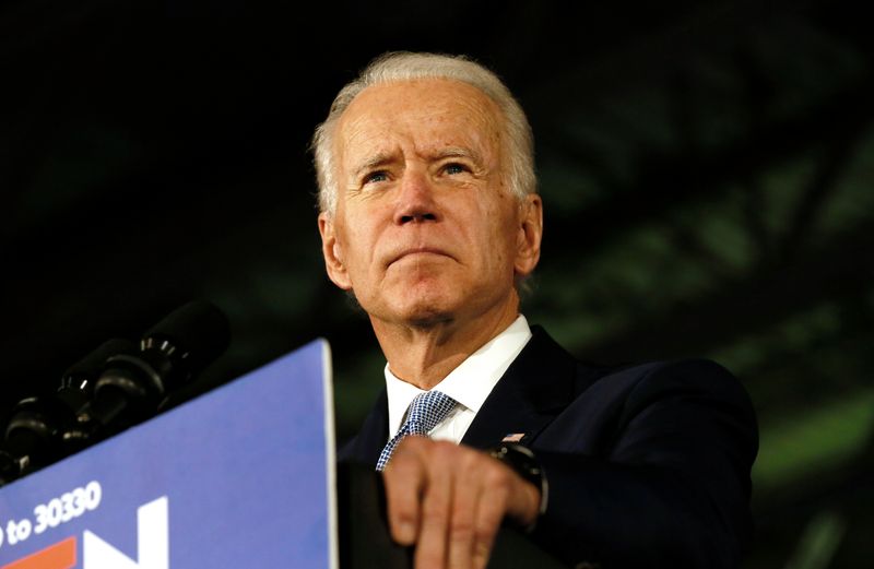
[[[370,318],[389,369],[418,389],[437,386],[462,361],[504,332],[519,316],[519,305],[459,322],[454,319],[409,324]]]

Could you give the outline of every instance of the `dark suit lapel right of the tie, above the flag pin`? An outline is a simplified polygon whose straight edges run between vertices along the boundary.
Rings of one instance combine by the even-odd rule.
[[[576,360],[541,327],[486,398],[461,440],[485,449],[511,434],[523,444],[566,407],[575,395]]]

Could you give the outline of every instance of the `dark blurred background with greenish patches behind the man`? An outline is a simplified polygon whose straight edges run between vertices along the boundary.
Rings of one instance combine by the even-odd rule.
[[[870,27],[830,1],[8,1],[0,416],[206,298],[234,341],[180,399],[326,336],[347,438],[383,361],[323,274],[308,140],[371,57],[465,52],[535,132],[529,320],[586,359],[728,366],[761,428],[747,567],[867,568]]]

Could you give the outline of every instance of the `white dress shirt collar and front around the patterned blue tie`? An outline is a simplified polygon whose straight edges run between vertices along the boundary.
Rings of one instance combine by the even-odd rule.
[[[519,317],[500,334],[474,352],[453,369],[434,389],[458,402],[456,408],[440,422],[428,436],[435,440],[461,442],[485,399],[510,367],[510,364],[531,340],[531,329],[525,317]],[[406,418],[413,398],[423,390],[398,379],[386,364],[386,389],[389,398],[389,440]]]

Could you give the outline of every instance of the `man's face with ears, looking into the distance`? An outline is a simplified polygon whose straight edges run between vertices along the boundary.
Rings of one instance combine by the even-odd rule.
[[[541,202],[505,185],[501,120],[479,90],[447,80],[369,87],[341,117],[336,211],[319,228],[329,276],[375,323],[515,316]]]

